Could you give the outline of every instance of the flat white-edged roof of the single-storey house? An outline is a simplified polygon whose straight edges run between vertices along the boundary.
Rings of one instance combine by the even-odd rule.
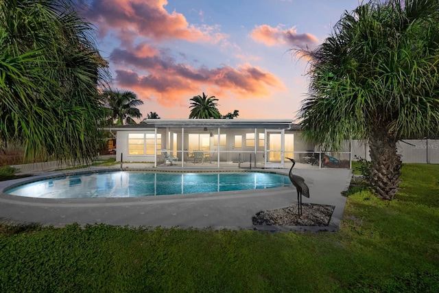
[[[139,124],[108,127],[112,130],[142,128],[272,128],[298,130],[291,119],[144,119]]]

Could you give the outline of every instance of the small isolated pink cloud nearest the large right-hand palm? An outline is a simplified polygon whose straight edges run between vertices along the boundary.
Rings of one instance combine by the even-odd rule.
[[[257,25],[252,30],[250,36],[253,40],[268,46],[289,45],[305,47],[306,45],[316,45],[318,38],[312,34],[297,34],[297,30],[292,27],[282,30],[280,26],[270,27],[270,25]]]

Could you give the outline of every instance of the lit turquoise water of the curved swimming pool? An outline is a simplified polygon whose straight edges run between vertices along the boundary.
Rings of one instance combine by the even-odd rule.
[[[268,172],[102,172],[47,178],[8,189],[5,194],[31,198],[126,198],[291,185],[288,176]]]

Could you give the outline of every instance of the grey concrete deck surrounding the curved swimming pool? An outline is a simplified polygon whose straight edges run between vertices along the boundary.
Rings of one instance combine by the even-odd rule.
[[[296,165],[297,166],[297,165]],[[134,171],[191,172],[206,169],[180,167],[147,168],[136,164],[124,164]],[[112,167],[88,167],[69,171],[95,172],[114,169]],[[218,171],[239,171],[217,169]],[[212,172],[209,169],[209,172]],[[289,169],[252,169],[252,171],[288,174]],[[66,171],[45,172],[32,176],[32,180],[47,176],[66,174]],[[338,231],[346,198],[342,196],[351,182],[350,169],[294,168],[294,174],[305,178],[309,186],[310,198],[303,197],[303,203],[330,204],[335,206],[329,226],[261,226],[253,225],[252,217],[259,211],[281,209],[297,203],[294,187],[256,189],[246,191],[224,191],[221,193],[179,194],[169,196],[148,196],[143,198],[87,198],[87,199],[47,199],[25,198],[5,194],[3,189],[31,178],[21,178],[0,182],[0,220],[29,223],[37,222],[51,226],[65,226],[79,223],[105,223],[119,226],[251,229],[259,231]]]

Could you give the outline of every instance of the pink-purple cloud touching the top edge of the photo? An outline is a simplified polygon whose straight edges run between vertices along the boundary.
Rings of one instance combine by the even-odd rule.
[[[101,37],[116,30],[120,38],[135,35],[155,41],[176,38],[215,43],[226,38],[215,27],[189,24],[183,14],[167,12],[165,5],[166,0],[91,0],[84,16],[97,24]]]

